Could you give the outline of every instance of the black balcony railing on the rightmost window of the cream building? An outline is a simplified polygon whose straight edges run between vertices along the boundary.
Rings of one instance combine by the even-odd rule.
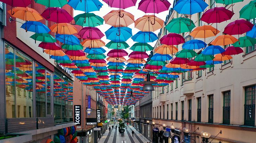
[[[255,125],[255,104],[244,105],[244,125]]]

